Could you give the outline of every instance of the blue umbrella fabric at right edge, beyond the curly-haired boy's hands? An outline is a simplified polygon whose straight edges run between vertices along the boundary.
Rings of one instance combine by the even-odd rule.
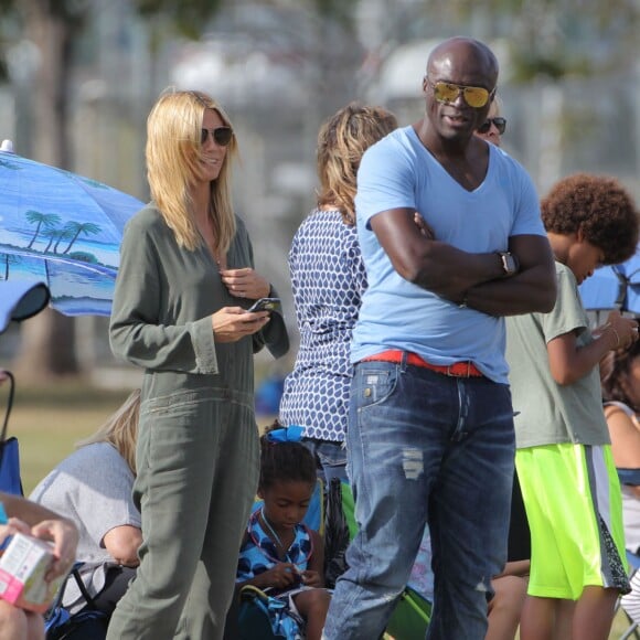
[[[586,309],[640,313],[640,245],[620,265],[600,267],[579,287]]]

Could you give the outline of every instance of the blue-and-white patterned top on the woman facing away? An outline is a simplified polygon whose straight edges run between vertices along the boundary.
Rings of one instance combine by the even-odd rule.
[[[305,437],[340,442],[349,415],[351,333],[366,289],[355,227],[339,211],[313,210],[294,237],[289,271],[300,348],[279,419],[305,427]]]

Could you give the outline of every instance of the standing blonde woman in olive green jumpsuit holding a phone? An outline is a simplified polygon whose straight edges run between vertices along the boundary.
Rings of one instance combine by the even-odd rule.
[[[253,354],[288,350],[277,296],[231,203],[237,141],[202,92],[169,90],[147,120],[152,201],[127,224],[111,350],[145,370],[134,500],[136,579],[111,640],[222,638],[259,468]]]

